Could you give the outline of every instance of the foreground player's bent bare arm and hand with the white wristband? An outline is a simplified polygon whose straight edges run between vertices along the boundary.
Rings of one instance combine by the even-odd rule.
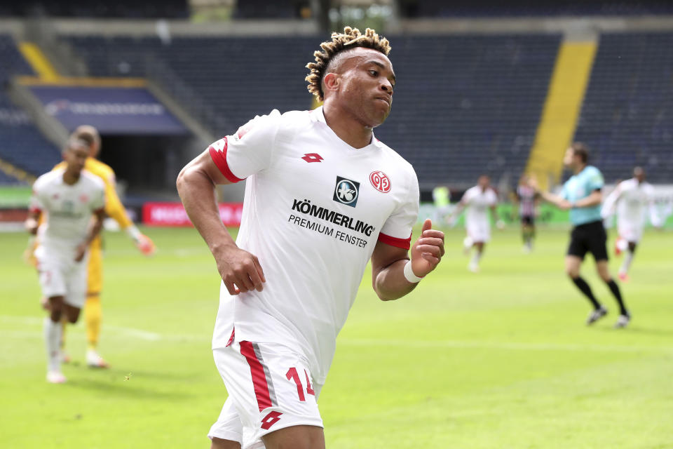
[[[432,225],[429,219],[423,223],[421,236],[411,248],[411,262],[405,248],[382,241],[376,243],[372,253],[372,286],[381,300],[397,300],[416,288],[418,283],[405,276],[407,263],[417,278],[423,278],[440,263],[444,255],[444,233],[431,229]]]

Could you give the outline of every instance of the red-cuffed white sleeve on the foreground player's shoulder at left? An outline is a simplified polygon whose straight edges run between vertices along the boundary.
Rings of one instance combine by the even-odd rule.
[[[208,151],[212,161],[229,182],[238,182],[271,163],[273,146],[280,126],[280,112],[257,116],[236,133],[214,142]]]

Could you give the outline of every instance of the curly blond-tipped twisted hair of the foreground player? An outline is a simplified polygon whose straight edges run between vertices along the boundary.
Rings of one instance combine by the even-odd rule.
[[[322,51],[318,50],[313,53],[315,62],[309,62],[306,68],[311,72],[306,75],[308,81],[308,91],[311,92],[318,100],[322,101],[325,98],[322,92],[322,77],[325,76],[325,70],[337,53],[351,48],[365,47],[380,51],[388,56],[390,53],[390,43],[385,37],[376,34],[376,31],[371,28],[365,29],[365,34],[360,33],[357,28],[345,27],[343,33],[332,33],[332,41],[325,41],[320,44]]]

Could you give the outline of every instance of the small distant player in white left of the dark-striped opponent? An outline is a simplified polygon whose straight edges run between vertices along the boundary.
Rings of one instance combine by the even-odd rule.
[[[458,206],[449,217],[449,225],[453,226],[458,217],[467,208],[465,213],[465,229],[468,236],[463,241],[465,253],[469,254],[470,249],[475,248],[475,253],[468,264],[470,272],[479,272],[479,262],[484,253],[484,246],[491,240],[491,221],[489,220],[488,210],[491,210],[493,220],[498,229],[503,229],[505,224],[498,218],[496,205],[498,204],[498,195],[491,188],[491,178],[489,175],[481,175],[477,180],[475,187],[470,187],[463,198],[458,202]]]

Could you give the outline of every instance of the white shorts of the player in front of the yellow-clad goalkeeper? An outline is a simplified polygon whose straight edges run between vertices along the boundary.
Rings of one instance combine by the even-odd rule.
[[[35,250],[42,295],[63,296],[64,302],[81,309],[86,302],[86,276],[88,253],[81,262],[61,255],[44,246]]]

